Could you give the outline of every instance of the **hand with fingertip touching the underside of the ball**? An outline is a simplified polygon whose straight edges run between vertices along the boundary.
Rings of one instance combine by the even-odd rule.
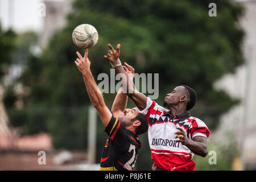
[[[90,60],[88,59],[88,49],[85,49],[84,57],[81,56],[81,54],[77,51],[77,56],[79,58],[76,59],[75,63],[77,65],[77,68],[79,68],[79,71],[84,74],[88,70],[90,70]]]

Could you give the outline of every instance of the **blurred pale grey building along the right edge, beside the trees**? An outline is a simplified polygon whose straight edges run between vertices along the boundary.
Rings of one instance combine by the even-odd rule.
[[[227,139],[226,134],[232,133],[230,139],[236,140],[242,153],[243,169],[256,169],[256,0],[238,2],[245,7],[240,24],[246,34],[243,43],[246,64],[237,68],[236,73],[225,75],[215,86],[239,98],[241,104],[222,115],[212,140],[223,142]]]

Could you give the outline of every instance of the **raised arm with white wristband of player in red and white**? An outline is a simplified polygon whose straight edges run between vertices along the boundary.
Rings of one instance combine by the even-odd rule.
[[[126,91],[127,96],[129,96],[131,100],[134,101],[135,105],[138,107],[139,110],[145,109],[147,97],[144,94],[138,92],[138,90],[136,90],[133,81],[129,79],[129,75],[125,72],[125,70],[122,67],[121,61],[119,60],[121,45],[117,45],[116,51],[110,44],[108,44],[108,46],[110,47],[110,50],[108,51],[108,55],[104,57],[110,61],[112,67],[115,69],[116,75],[122,73],[122,85],[124,85],[123,88],[125,89],[124,91]]]

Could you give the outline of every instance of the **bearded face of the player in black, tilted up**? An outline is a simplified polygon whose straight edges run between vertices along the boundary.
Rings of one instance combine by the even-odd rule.
[[[133,124],[131,120],[137,117],[138,114],[138,107],[133,107],[133,109],[125,109],[125,111],[119,115],[119,119],[123,123],[123,125],[130,126]]]

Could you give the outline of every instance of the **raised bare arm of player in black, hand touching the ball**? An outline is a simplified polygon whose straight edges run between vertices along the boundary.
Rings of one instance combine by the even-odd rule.
[[[96,108],[98,114],[100,115],[101,121],[104,126],[108,126],[110,119],[112,118],[112,113],[105,105],[104,99],[98,89],[98,86],[93,78],[92,72],[90,71],[90,61],[88,59],[88,49],[85,50],[85,55],[82,57],[79,52],[76,52],[79,58],[76,59],[75,63],[82,73],[84,78],[86,90],[88,92],[90,102]]]

